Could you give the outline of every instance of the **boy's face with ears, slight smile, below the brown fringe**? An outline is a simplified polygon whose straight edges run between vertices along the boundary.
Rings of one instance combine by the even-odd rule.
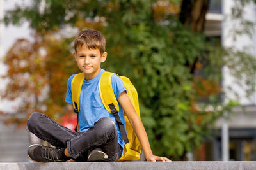
[[[87,46],[78,47],[74,56],[77,62],[77,66],[85,75],[85,80],[91,80],[99,74],[101,68],[101,62],[104,62],[107,58],[107,52],[100,54],[99,49],[89,50]]]

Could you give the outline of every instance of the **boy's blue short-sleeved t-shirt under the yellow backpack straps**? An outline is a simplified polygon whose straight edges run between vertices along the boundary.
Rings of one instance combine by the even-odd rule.
[[[105,70],[102,69],[100,73],[95,76],[92,80],[84,80],[83,85],[81,88],[81,94],[80,94],[80,110],[79,110],[79,132],[85,132],[87,131],[90,127],[94,125],[95,122],[97,122],[100,118],[102,117],[108,117],[111,118],[117,127],[118,131],[118,143],[121,146],[121,153],[123,154],[124,152],[124,140],[122,140],[121,132],[118,127],[118,124],[115,120],[115,117],[109,113],[105,108],[104,105],[100,99],[100,92],[99,92],[99,81],[102,76],[102,73]],[[67,96],[66,96],[66,102],[72,104],[72,94],[71,94],[71,82],[72,79],[74,78],[75,74],[70,76],[68,78],[68,86],[67,86]],[[118,99],[119,95],[126,91],[124,87],[123,81],[113,74],[111,77],[111,84],[113,87],[113,92],[115,94],[116,99]],[[124,120],[124,111],[119,105],[119,117],[122,123],[125,125],[125,120]]]

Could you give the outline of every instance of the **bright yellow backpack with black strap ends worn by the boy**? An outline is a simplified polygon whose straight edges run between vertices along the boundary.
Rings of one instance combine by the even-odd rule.
[[[114,73],[104,71],[104,73],[102,74],[102,77],[100,78],[99,92],[100,92],[100,98],[102,100],[104,107],[106,108],[106,110],[108,110],[109,113],[112,113],[115,116],[115,120],[118,123],[118,126],[120,127],[122,139],[124,139],[125,141],[124,154],[117,161],[138,160],[140,159],[140,153],[141,153],[140,141],[137,138],[135,132],[133,131],[132,126],[126,116],[124,116],[124,118],[125,118],[127,136],[125,134],[125,131],[124,130],[122,131],[122,127],[124,127],[124,125],[120,125],[122,124],[122,122],[120,121],[120,117],[118,115],[118,111],[119,111],[118,101],[116,100],[116,97],[111,85],[111,76],[113,74]],[[132,105],[136,110],[136,113],[140,117],[138,94],[135,87],[132,85],[129,78],[125,76],[120,76],[120,78],[124,83],[125,89],[127,90],[127,94],[129,96],[129,99],[131,100]],[[77,124],[78,124],[80,93],[81,93],[83,81],[84,81],[84,73],[79,73],[79,74],[76,74],[76,76],[74,76],[71,83],[72,101],[73,101],[74,111],[77,113]],[[77,131],[77,128],[76,128],[76,131]]]

